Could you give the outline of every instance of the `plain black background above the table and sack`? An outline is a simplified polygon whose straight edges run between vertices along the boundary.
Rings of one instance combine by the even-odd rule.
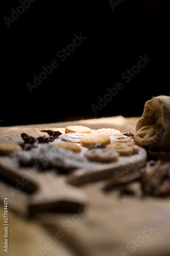
[[[36,0],[8,28],[18,6],[7,1],[2,13],[0,125],[140,116],[145,101],[170,95],[169,0],[124,0],[114,11],[108,0]],[[87,38],[61,61],[80,33]],[[121,75],[145,54],[152,60],[126,83]],[[30,93],[27,82],[53,60],[59,67]],[[118,81],[124,88],[95,115],[91,104]]]

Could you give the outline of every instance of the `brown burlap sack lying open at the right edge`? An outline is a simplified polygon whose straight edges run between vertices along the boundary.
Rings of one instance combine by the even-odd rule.
[[[143,115],[136,123],[136,132],[146,125],[154,125],[154,129],[157,129],[157,134],[152,138],[149,149],[170,151],[169,96],[161,95],[145,102]]]

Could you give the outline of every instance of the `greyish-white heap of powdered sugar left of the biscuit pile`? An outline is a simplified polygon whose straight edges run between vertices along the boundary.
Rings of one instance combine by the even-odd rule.
[[[74,153],[65,148],[57,147],[54,143],[39,144],[30,151],[20,151],[14,153],[11,158],[22,165],[39,165],[42,168],[62,167],[62,168],[83,168],[89,169],[95,167],[95,162],[90,162],[84,154],[86,148],[80,153]]]

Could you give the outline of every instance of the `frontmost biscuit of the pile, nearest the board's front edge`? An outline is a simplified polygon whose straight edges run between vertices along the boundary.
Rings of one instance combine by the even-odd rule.
[[[90,161],[110,162],[117,161],[119,154],[107,148],[92,148],[86,152],[85,157]]]

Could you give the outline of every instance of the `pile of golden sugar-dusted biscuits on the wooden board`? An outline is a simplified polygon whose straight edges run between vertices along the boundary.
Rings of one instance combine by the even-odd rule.
[[[131,136],[125,136],[120,131],[111,128],[91,130],[86,126],[67,126],[61,140],[56,146],[80,152],[81,146],[88,148],[85,157],[90,161],[117,161],[119,156],[131,156],[138,153],[139,146]]]

